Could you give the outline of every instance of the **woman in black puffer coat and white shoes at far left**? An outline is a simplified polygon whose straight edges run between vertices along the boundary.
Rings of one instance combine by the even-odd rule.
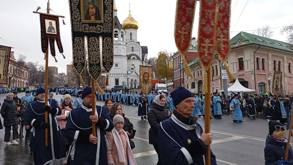
[[[13,101],[13,93],[9,93],[4,99],[0,110],[1,116],[3,117],[3,124],[5,127],[4,141],[6,145],[18,145],[19,143],[16,141],[18,139],[18,120],[21,121],[20,114],[17,111],[16,104]],[[10,142],[10,131],[12,126],[12,143]]]

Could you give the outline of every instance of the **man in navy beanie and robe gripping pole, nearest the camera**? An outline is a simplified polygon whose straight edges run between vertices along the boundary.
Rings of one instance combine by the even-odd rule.
[[[176,109],[160,123],[157,144],[162,164],[204,165],[207,145],[212,143],[212,133],[205,134],[197,117],[193,116],[194,98],[191,92],[179,86],[172,92]],[[211,151],[211,165],[216,165]]]

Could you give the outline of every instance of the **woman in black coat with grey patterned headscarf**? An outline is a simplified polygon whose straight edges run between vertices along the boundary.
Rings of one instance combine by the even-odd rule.
[[[158,154],[158,163],[157,165],[161,164],[159,147],[157,145],[157,134],[160,122],[166,120],[169,117],[169,112],[165,109],[165,101],[166,98],[164,95],[160,94],[154,98],[154,102],[152,103],[149,112],[147,112],[147,120],[150,123],[150,130],[149,130],[149,143],[154,146]],[[170,115],[172,114],[172,111]]]

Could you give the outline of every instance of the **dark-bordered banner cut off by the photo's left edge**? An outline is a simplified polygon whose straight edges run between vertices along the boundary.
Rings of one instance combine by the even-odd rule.
[[[0,45],[0,84],[8,84],[8,64],[11,47]]]

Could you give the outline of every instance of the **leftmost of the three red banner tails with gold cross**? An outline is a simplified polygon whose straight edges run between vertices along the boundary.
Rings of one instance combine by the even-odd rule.
[[[181,55],[185,55],[191,44],[196,2],[196,0],[177,0],[174,36]]]

